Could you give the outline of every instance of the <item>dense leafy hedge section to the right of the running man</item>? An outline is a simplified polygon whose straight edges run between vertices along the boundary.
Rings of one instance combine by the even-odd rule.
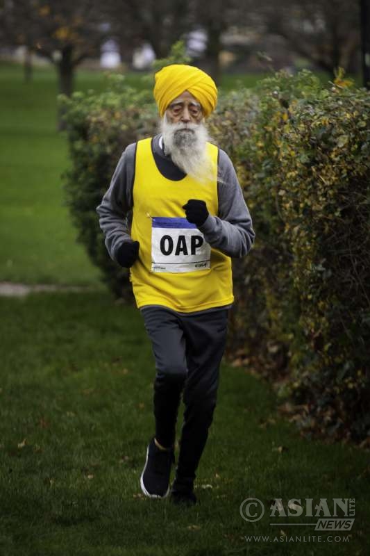
[[[233,115],[249,130],[231,151],[256,228],[237,329],[247,355],[268,354],[265,375],[288,372],[280,394],[296,402],[298,425],[369,439],[370,95],[323,88],[307,71],[256,93],[252,118]],[[233,117],[212,122],[226,149]]]

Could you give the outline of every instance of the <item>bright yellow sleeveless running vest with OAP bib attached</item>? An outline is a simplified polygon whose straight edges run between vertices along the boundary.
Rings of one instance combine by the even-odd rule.
[[[155,304],[190,313],[233,302],[231,259],[205,242],[185,218],[189,199],[202,199],[211,215],[218,213],[217,177],[199,183],[178,181],[158,170],[151,138],[137,142],[133,183],[131,238],[140,242],[130,279],[137,307]],[[218,149],[208,143],[217,168]]]

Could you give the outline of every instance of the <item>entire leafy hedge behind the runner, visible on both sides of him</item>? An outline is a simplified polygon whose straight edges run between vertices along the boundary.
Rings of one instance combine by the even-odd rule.
[[[124,82],[123,82],[124,83]],[[209,127],[237,167],[256,231],[233,261],[230,352],[272,380],[302,432],[370,436],[370,96],[337,78],[280,72],[220,98]],[[147,93],[63,101],[78,238],[116,295],[127,275],[103,245],[95,207],[128,143],[155,133]]]

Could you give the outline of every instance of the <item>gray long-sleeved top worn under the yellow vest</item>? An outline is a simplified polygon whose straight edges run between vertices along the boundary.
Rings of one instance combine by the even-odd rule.
[[[152,151],[158,170],[167,179],[179,180],[185,177],[183,171],[163,151],[160,135],[153,138]],[[116,254],[121,244],[131,240],[135,153],[136,143],[126,147],[110,186],[101,204],[96,207],[99,225],[106,236],[106,247],[114,261],[117,261]],[[204,224],[199,226],[199,230],[211,247],[230,257],[242,257],[251,249],[255,232],[233,163],[222,149],[219,149],[217,172],[219,212],[216,216],[208,215]]]

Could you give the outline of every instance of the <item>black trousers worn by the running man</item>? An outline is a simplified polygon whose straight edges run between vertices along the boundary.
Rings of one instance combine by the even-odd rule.
[[[165,307],[147,306],[142,315],[155,357],[155,439],[166,448],[174,445],[183,394],[176,481],[192,484],[216,407],[228,309],[179,316]]]

